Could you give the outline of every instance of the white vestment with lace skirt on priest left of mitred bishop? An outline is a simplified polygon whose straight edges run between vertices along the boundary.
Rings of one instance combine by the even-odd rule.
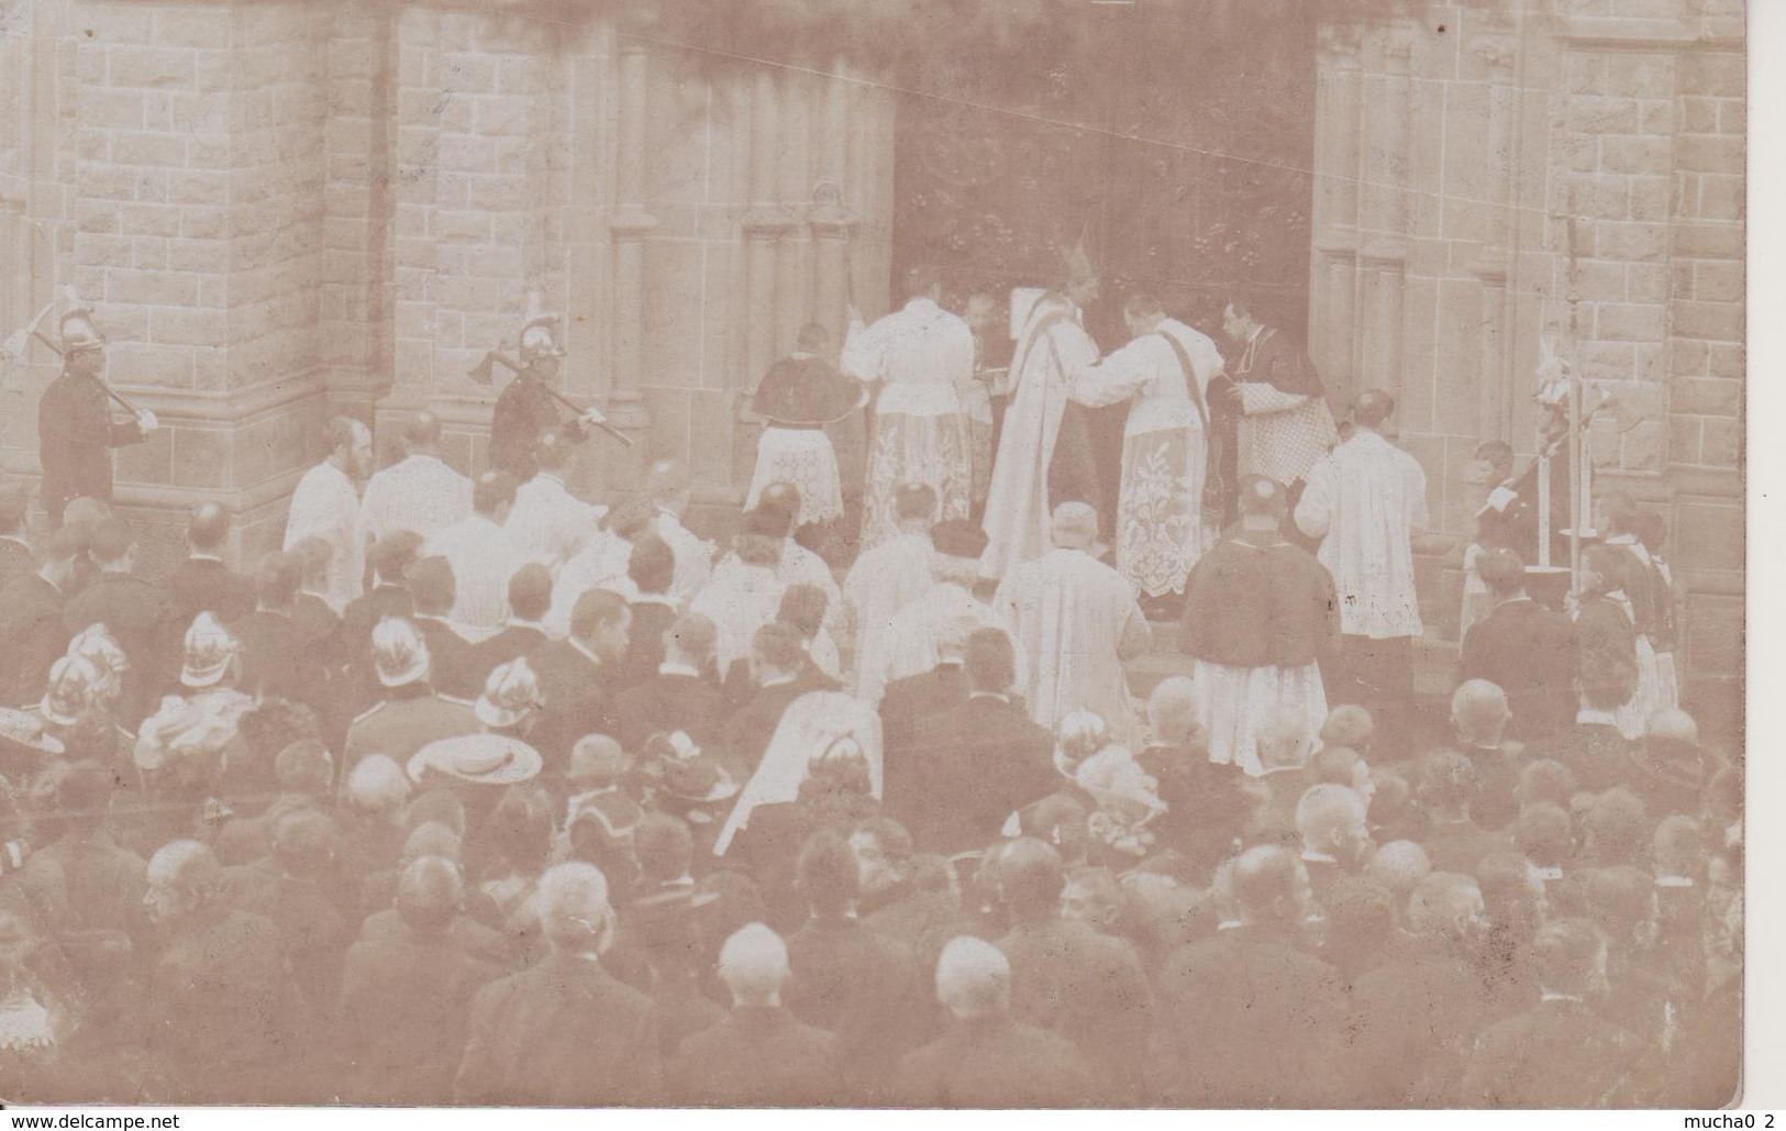
[[[973,381],[973,331],[929,298],[913,298],[870,327],[855,323],[838,370],[882,381],[868,441],[863,549],[898,532],[893,498],[922,482],[936,491],[938,518],[966,518],[973,488],[968,416],[956,386]]]

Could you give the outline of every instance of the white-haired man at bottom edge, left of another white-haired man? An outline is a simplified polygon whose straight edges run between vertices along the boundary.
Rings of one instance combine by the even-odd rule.
[[[834,1101],[838,1038],[782,1006],[788,945],[763,924],[720,947],[732,1011],[682,1042],[670,1061],[668,1099],[702,1108],[818,1108]]]

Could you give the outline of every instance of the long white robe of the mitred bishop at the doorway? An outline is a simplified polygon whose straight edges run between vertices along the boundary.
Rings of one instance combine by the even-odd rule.
[[[1020,561],[1048,550],[1048,463],[1061,432],[1066,393],[1079,373],[1097,363],[1098,347],[1079,325],[1079,311],[1057,295],[1031,309],[1018,336],[1016,356],[1004,384],[993,390],[1013,395],[993,459],[986,493],[988,545],[981,554],[982,577],[1004,577]]]

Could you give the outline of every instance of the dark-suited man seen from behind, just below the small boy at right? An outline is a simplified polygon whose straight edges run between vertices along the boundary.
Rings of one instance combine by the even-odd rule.
[[[1507,734],[1532,741],[1565,729],[1575,715],[1575,625],[1525,593],[1525,563],[1493,550],[1479,566],[1495,611],[1463,638],[1457,681],[1486,679],[1507,693]]]

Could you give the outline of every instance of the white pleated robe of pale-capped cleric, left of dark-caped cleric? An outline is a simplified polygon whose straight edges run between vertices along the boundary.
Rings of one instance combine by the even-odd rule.
[[[1020,563],[993,611],[1029,668],[1029,716],[1054,731],[1070,711],[1095,711],[1116,741],[1138,738],[1123,661],[1148,640],[1129,579],[1082,550],[1054,549]]]

